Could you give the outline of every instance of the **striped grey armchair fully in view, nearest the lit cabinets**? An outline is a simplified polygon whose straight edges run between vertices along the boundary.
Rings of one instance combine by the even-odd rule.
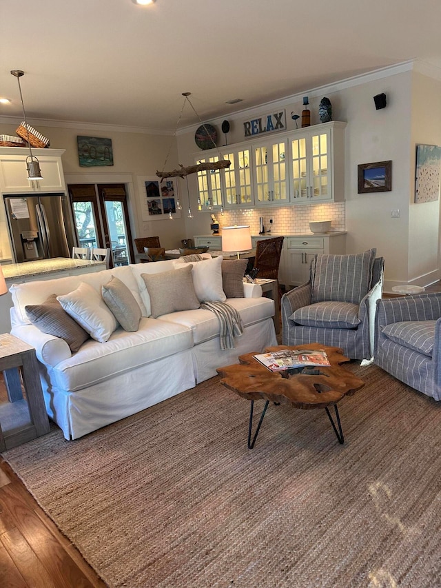
[[[282,297],[283,345],[322,343],[351,359],[371,359],[383,268],[375,249],[316,255],[309,281]]]

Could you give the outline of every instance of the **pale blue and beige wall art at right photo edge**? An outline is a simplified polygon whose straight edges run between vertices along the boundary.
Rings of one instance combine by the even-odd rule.
[[[440,197],[441,147],[416,146],[415,202],[435,202]]]

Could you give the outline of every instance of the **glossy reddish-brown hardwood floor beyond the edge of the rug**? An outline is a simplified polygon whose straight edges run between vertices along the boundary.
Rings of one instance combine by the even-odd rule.
[[[441,282],[425,289],[441,292]],[[6,396],[0,374],[0,396]],[[0,586],[102,588],[105,583],[0,458]]]

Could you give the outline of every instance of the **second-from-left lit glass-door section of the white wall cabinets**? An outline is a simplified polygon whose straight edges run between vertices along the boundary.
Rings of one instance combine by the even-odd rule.
[[[252,164],[249,147],[223,150],[223,159],[231,165],[220,174],[225,194],[225,208],[249,207],[254,204],[252,189]]]

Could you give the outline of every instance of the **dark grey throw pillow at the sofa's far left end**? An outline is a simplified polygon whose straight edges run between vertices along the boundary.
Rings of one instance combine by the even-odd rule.
[[[63,310],[57,294],[51,294],[42,304],[26,305],[25,312],[32,325],[41,332],[64,339],[72,353],[76,353],[89,338],[83,327]]]

